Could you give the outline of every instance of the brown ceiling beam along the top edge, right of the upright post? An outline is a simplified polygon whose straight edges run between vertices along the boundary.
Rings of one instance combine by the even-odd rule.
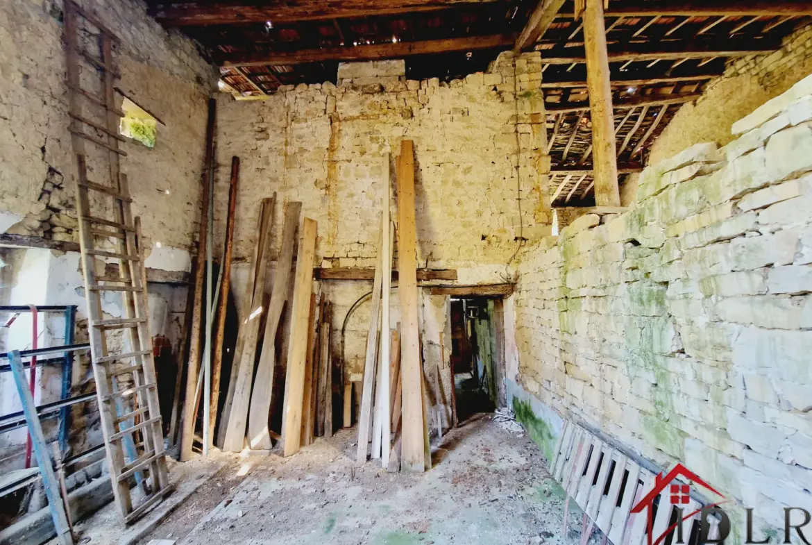
[[[607,17],[644,17],[667,15],[699,17],[714,15],[812,15],[812,3],[806,0],[694,0],[693,2],[611,2]],[[572,17],[572,13],[559,13]]]

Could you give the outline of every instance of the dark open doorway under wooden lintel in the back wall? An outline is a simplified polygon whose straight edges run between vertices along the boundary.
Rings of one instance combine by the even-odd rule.
[[[504,400],[503,300],[451,297],[451,370],[456,421],[492,413]]]

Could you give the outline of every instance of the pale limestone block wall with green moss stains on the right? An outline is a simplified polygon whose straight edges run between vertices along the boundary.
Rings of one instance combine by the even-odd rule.
[[[516,391],[548,452],[581,419],[783,527],[812,505],[812,76],[733,130],[529,250]]]

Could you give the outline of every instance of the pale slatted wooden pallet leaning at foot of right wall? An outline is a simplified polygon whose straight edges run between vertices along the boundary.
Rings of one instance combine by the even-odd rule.
[[[589,540],[596,527],[603,532],[605,539],[615,545],[647,543],[647,509],[637,514],[631,511],[654,487],[656,476],[648,469],[589,430],[564,421],[551,473],[567,495],[564,534],[567,531],[569,501],[575,500],[584,512],[581,543]],[[654,503],[666,506],[657,508],[654,513],[652,535],[656,539],[670,526],[675,507],[670,503],[667,490],[657,495]],[[691,498],[683,509],[687,514],[701,507],[697,500]],[[693,531],[693,525],[698,524],[698,514],[683,523],[685,542]],[[675,531],[672,530],[672,533]]]

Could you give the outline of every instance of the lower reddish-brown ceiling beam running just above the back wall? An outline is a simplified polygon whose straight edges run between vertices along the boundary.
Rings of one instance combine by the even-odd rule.
[[[464,38],[447,38],[430,41],[399,41],[374,45],[356,45],[348,47],[325,47],[324,49],[298,51],[269,51],[235,55],[225,58],[222,66],[266,66],[301,63],[319,63],[322,61],[369,61],[378,58],[400,58],[409,55],[447,53],[449,51],[482,50],[513,45],[516,36],[498,34],[495,36],[471,36]]]

